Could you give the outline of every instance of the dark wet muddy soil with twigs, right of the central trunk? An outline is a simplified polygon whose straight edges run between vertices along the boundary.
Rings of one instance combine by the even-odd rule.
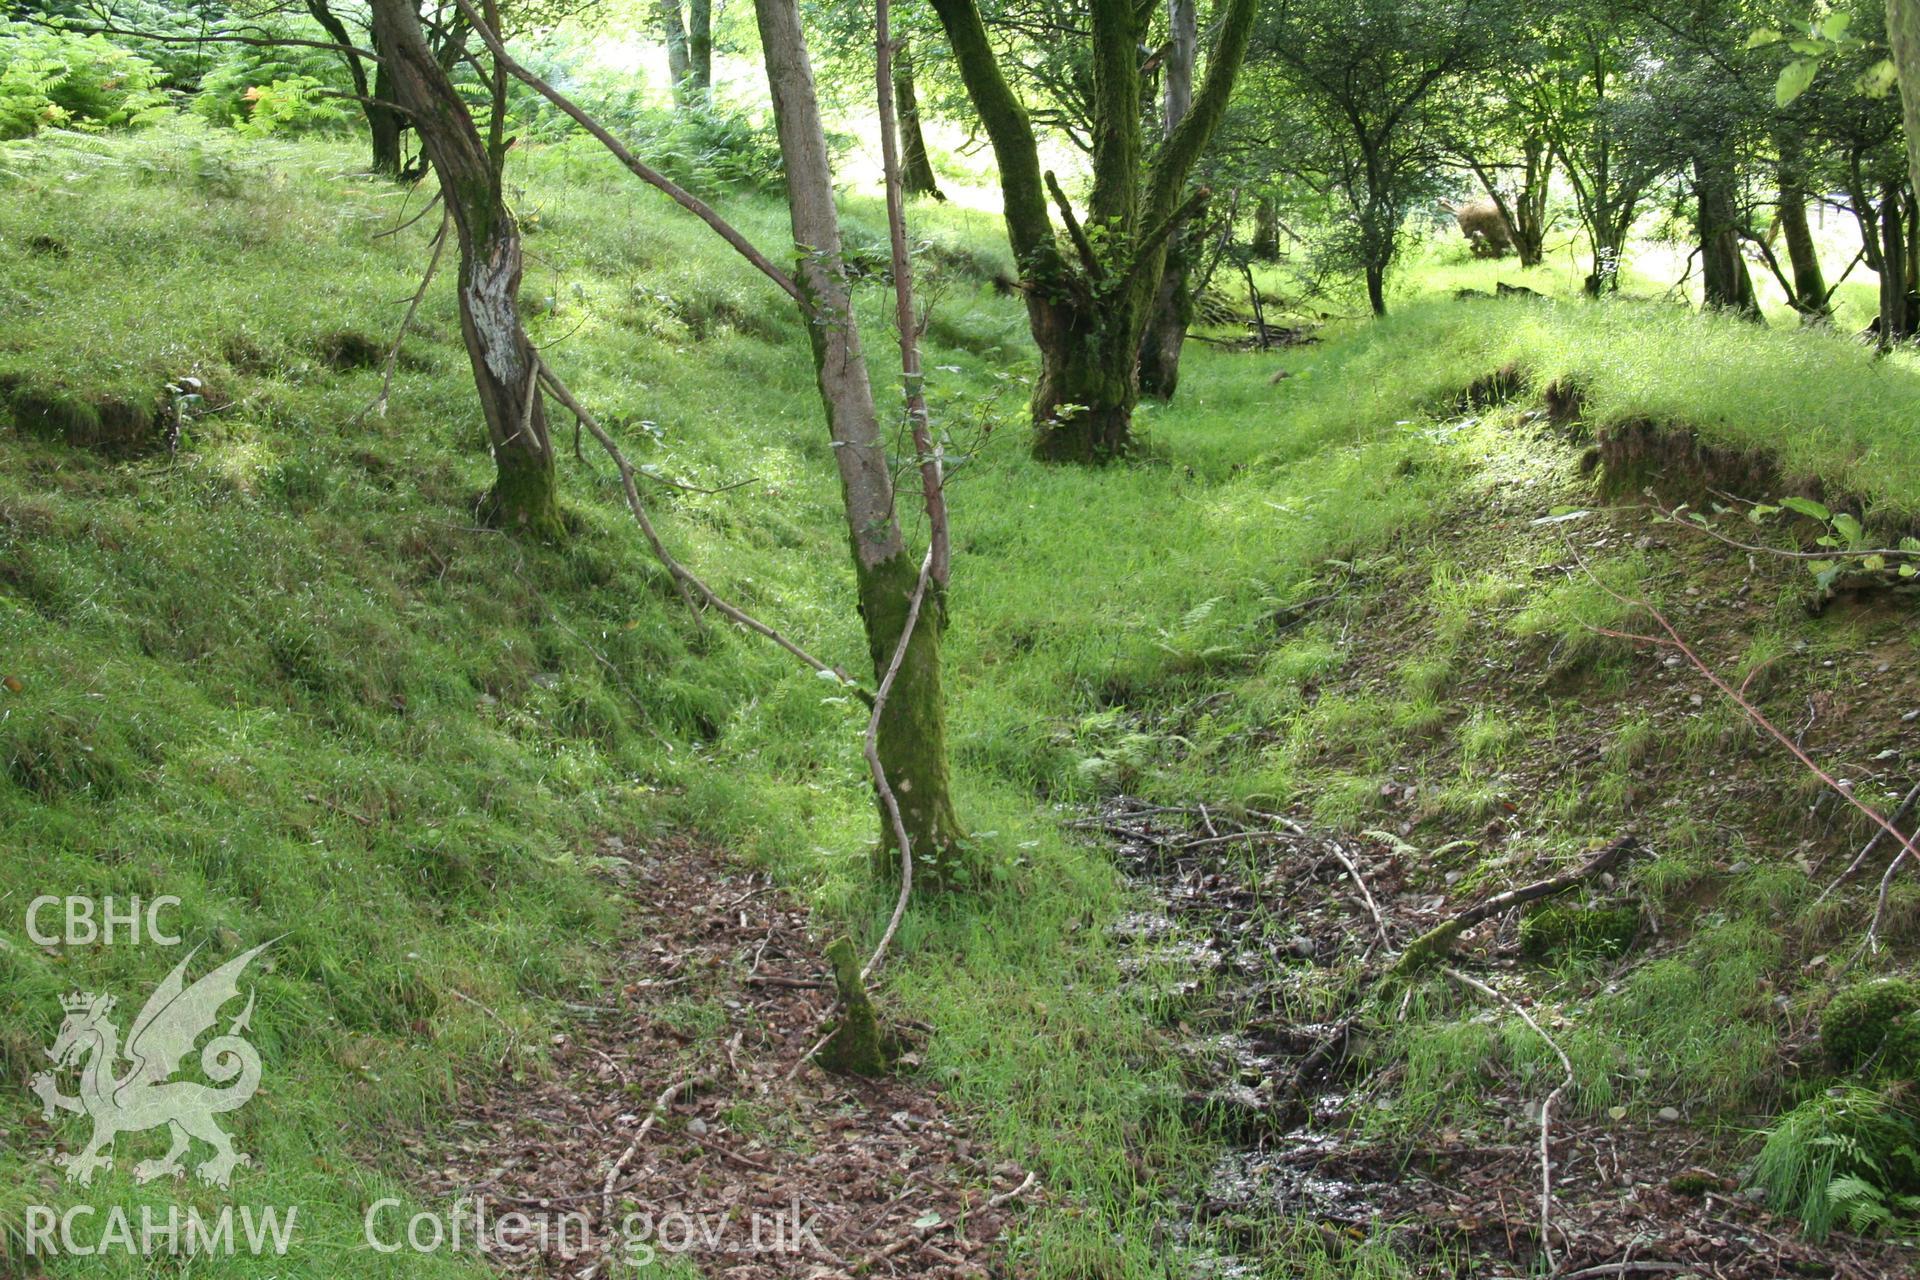
[[[1183,1274],[1275,1274],[1260,1242],[1277,1219],[1311,1224],[1332,1249],[1384,1238],[1413,1274],[1436,1278],[1914,1274],[1912,1251],[1893,1244],[1799,1240],[1730,1174],[1741,1167],[1738,1130],[1567,1107],[1551,1121],[1542,1249],[1540,1103],[1551,1084],[1490,1090],[1492,1119],[1475,1128],[1380,1123],[1396,1107],[1396,1069],[1369,1046],[1411,998],[1382,975],[1473,898],[1415,887],[1411,846],[1304,816],[1229,821],[1119,796],[1081,825],[1112,844],[1148,902],[1117,925],[1137,942],[1129,981],[1169,998],[1194,1121],[1229,1136],[1204,1190],[1169,1203],[1169,1232],[1194,1245]],[[1524,963],[1503,917],[1469,931],[1453,956],[1530,1006]],[[1463,1004],[1461,1015],[1501,1011]]]

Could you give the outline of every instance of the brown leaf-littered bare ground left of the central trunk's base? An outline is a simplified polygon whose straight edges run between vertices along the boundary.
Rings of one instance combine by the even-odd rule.
[[[829,1006],[806,910],[687,841],[603,852],[634,902],[603,1000],[572,1009],[551,1079],[497,1080],[417,1144],[422,1197],[484,1201],[486,1251],[515,1276],[605,1280],[649,1257],[682,1274],[672,1255],[714,1280],[1010,1274],[993,1242],[1023,1174],[977,1153],[937,1092],[785,1079]]]

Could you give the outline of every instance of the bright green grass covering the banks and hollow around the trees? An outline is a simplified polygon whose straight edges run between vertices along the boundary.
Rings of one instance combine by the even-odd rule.
[[[747,482],[649,489],[670,543],[720,591],[856,662],[797,320],[591,152],[515,157],[515,198],[540,213],[526,294],[547,359],[637,461],[707,487]],[[332,353],[353,345],[342,334],[386,340],[430,226],[376,238],[409,201],[353,177],[355,161],[186,127],[0,154],[10,393],[138,401],[192,374],[209,401],[173,464],[0,438],[0,674],[19,681],[0,693],[0,910],[17,919],[40,892],[171,892],[184,933],[219,954],[280,938],[255,1017],[267,1086],[238,1117],[257,1161],[242,1196],[303,1205],[307,1247],[273,1274],[453,1276],[472,1272],[355,1249],[359,1211],[405,1196],[396,1130],[430,1126],[463,1079],[540,1044],[559,1002],[595,990],[597,948],[622,927],[591,875],[597,833],[701,829],[856,931],[887,902],[866,883],[856,708],[751,637],[695,629],[607,466],[563,468],[578,524],[564,549],[472,526],[490,466],[445,280],[390,413],[357,416],[378,370]],[[722,203],[781,244],[776,203]],[[849,196],[847,217],[877,240],[876,201]],[[1309,800],[1361,829],[1388,771],[1432,756],[1446,785],[1417,841],[1453,848],[1457,892],[1501,885],[1534,852],[1576,848],[1596,794],[1624,804],[1636,768],[1678,745],[1622,718],[1590,766],[1611,770],[1605,785],[1555,783],[1524,858],[1453,844],[1534,802],[1517,771],[1588,725],[1582,681],[1630,674],[1611,641],[1588,649],[1582,624],[1619,620],[1607,597],[1536,574],[1544,553],[1509,545],[1511,522],[1457,524],[1484,493],[1565,470],[1515,436],[1519,407],[1463,426],[1461,391],[1509,363],[1536,388],[1578,376],[1601,422],[1768,443],[1905,512],[1920,503],[1916,374],[1832,336],[1655,305],[1428,301],[1275,357],[1196,344],[1181,397],[1142,411],[1142,461],[1041,468],[1023,449],[1020,307],[964,265],[1004,267],[998,230],[966,209],[916,217],[962,263],[941,282],[927,351],[935,416],[964,443],[950,743],[1000,892],[922,904],[887,990],[939,1029],[924,1069],[1056,1192],[1016,1257],[1037,1276],[1156,1276],[1169,1188],[1194,1186],[1215,1142],[1177,1107],[1165,1009],[1121,983],[1125,944],[1106,925],[1127,887],[1037,800],[1117,787]],[[33,236],[69,253],[19,251]],[[879,290],[860,309],[887,386]],[[1277,368],[1290,376],[1269,384]],[[1601,566],[1640,591],[1667,589],[1670,570],[1665,553]],[[1319,597],[1332,603],[1275,633],[1277,614]],[[1753,660],[1797,654],[1807,628],[1768,631]],[[1492,689],[1486,662],[1509,649],[1557,649],[1571,685]],[[1743,750],[1722,727],[1688,750]],[[1711,875],[1716,835],[1667,829],[1676,839],[1642,885],[1678,902]],[[1697,954],[1642,971],[1596,1015],[1584,1105],[1628,1088],[1620,1063],[1640,1052],[1657,1065],[1632,1086],[1647,1098],[1764,1075],[1774,1032],[1751,984],[1793,960],[1757,933],[1764,908],[1730,904]],[[140,992],[171,961],[0,931],[0,981],[17,996],[0,1013],[0,1238],[17,1245],[27,1203],[71,1196],[17,1140],[58,996]],[[689,1007],[685,1025],[710,1015]],[[1538,1046],[1461,1021],[1457,1004],[1425,1009],[1392,1052],[1419,1082],[1407,1115],[1465,1105],[1494,1067],[1548,1069]],[[541,1071],[538,1052],[518,1048],[511,1069]],[[129,1207],[154,1194],[125,1173],[98,1192]],[[1311,1232],[1271,1230],[1292,1274],[1392,1274],[1371,1245],[1327,1253]],[[52,1272],[142,1274],[127,1259]],[[265,1272],[207,1259],[194,1274]]]

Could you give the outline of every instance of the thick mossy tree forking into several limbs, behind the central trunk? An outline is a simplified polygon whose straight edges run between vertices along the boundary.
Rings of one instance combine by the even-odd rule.
[[[1148,10],[1133,0],[1092,0],[1092,192],[1085,221],[1052,175],[1041,173],[1033,121],[1006,79],[977,0],[933,0],[933,10],[1000,167],[1002,217],[1041,349],[1033,453],[1058,462],[1121,457],[1133,443],[1140,336],[1167,242],[1206,200],[1204,190],[1187,196],[1187,178],[1227,109],[1256,0],[1225,0],[1206,81],[1152,159],[1140,75]],[[1071,257],[1054,232],[1048,196]]]

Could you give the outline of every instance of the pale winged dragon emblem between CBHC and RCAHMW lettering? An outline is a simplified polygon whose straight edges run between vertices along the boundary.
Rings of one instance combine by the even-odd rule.
[[[134,1165],[132,1176],[140,1182],[182,1173],[182,1157],[192,1148],[192,1138],[213,1148],[213,1157],[194,1169],[202,1182],[228,1186],[236,1167],[253,1163],[252,1157],[234,1151],[232,1138],[213,1123],[223,1111],[246,1105],[259,1088],[259,1052],[240,1036],[253,1017],[252,992],[246,1009],[227,1027],[227,1034],[215,1036],[200,1052],[200,1069],[213,1084],[175,1080],[173,1075],[180,1069],[180,1059],[194,1050],[194,1042],[213,1029],[221,1006],[240,996],[240,971],[269,946],[273,944],[263,942],[234,956],[192,986],[186,984],[186,965],[200,948],[188,952],[132,1019],[125,1071],[121,1071],[119,1027],[111,1019],[113,996],[92,992],[61,996],[67,1021],[60,1025],[60,1036],[46,1055],[54,1059],[56,1071],[81,1067],[81,1092],[75,1098],[61,1094],[52,1071],[38,1073],[31,1084],[48,1121],[56,1111],[73,1111],[94,1121],[94,1136],[86,1150],[56,1161],[67,1171],[69,1182],[86,1186],[94,1180],[96,1169],[113,1169],[111,1148],[117,1134],[144,1132],[161,1125],[169,1128],[173,1146],[163,1157]]]

